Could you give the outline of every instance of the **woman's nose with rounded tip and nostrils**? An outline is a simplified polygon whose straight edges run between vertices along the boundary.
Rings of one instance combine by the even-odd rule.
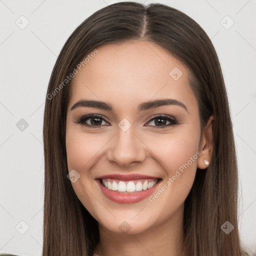
[[[134,133],[132,127],[123,131],[118,128],[117,134],[111,139],[107,151],[107,159],[124,167],[133,162],[143,162],[146,157],[146,145]]]

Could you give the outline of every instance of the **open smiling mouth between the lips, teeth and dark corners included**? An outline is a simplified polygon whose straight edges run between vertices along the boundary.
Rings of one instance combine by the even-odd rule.
[[[117,193],[138,193],[153,187],[161,178],[145,178],[137,180],[117,180],[112,178],[100,178],[100,183],[109,190]]]

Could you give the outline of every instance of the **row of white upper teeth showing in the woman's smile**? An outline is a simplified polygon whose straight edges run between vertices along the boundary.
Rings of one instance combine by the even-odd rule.
[[[108,188],[111,189],[113,191],[118,190],[119,192],[135,192],[135,191],[141,191],[141,190],[147,190],[149,188],[151,188],[152,186],[154,186],[156,184],[157,180],[153,180],[153,181],[115,181],[112,179],[102,179],[102,183],[103,185]],[[135,184],[136,183],[136,184]]]

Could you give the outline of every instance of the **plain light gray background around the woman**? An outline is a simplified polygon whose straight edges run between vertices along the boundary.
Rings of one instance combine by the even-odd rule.
[[[118,1],[0,0],[2,253],[41,255],[44,172],[42,123],[50,73],[71,32],[94,11],[114,2]],[[244,245],[251,254],[252,251],[256,253],[256,1],[158,2],[175,7],[198,22],[218,53],[237,149],[239,229]],[[20,25],[25,24],[21,15],[29,21],[24,29],[15,23],[17,20]],[[234,21],[228,29],[232,20],[226,15]],[[21,118],[28,123],[23,131],[16,126]],[[20,221],[28,225],[27,231],[26,224]],[[20,234],[24,231],[24,234]]]

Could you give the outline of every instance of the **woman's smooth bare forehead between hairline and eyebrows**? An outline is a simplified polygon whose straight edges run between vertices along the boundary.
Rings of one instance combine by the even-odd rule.
[[[79,99],[121,103],[129,108],[141,101],[174,98],[195,106],[189,71],[152,42],[106,44],[74,76],[68,107]],[[88,61],[89,60],[89,61]]]

